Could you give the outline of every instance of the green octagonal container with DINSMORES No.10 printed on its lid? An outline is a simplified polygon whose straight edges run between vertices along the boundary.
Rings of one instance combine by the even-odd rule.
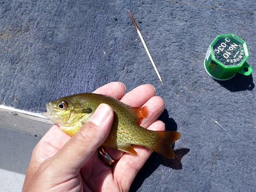
[[[234,34],[218,35],[206,52],[204,67],[212,78],[228,80],[237,73],[251,74],[252,68],[246,62],[248,57],[243,39]]]

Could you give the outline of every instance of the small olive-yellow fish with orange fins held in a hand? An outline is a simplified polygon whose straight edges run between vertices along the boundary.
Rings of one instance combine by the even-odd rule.
[[[47,112],[42,115],[58,124],[63,132],[73,136],[84,123],[89,121],[101,103],[109,104],[114,111],[110,134],[102,146],[136,155],[131,144],[141,145],[166,158],[175,158],[172,144],[180,138],[180,133],[151,131],[137,124],[138,120],[147,117],[146,106],[134,108],[110,96],[81,93],[46,103]]]

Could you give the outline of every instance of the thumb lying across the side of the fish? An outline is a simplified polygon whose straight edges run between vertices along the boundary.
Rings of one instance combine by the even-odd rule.
[[[95,154],[108,137],[114,113],[108,104],[100,104],[88,123],[55,154],[58,167],[80,171],[80,168]],[[54,159],[55,159],[54,158]],[[66,169],[67,172],[69,170]]]

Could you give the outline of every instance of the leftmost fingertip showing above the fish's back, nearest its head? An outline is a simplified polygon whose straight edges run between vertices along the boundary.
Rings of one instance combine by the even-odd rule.
[[[108,95],[111,97],[115,97],[116,99],[120,99],[124,95],[125,89],[126,88],[123,83],[111,82],[96,89],[93,93]]]

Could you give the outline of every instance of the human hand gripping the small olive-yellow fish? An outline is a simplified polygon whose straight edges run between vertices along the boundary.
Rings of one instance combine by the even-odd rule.
[[[94,93],[115,97],[131,106],[147,106],[148,117],[140,125],[154,131],[165,130],[164,123],[156,120],[164,110],[164,102],[155,96],[151,85],[124,92],[122,83],[112,82]],[[97,148],[108,136],[112,122],[112,108],[101,104],[73,137],[53,125],[33,150],[23,191],[128,191],[152,151],[135,145],[135,156],[106,147],[117,161],[113,167],[106,166],[98,157]]]

